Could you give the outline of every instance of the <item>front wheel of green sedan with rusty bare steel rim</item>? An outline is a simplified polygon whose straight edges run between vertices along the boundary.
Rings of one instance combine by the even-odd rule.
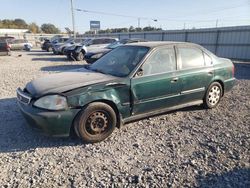
[[[86,106],[75,119],[76,134],[87,143],[106,139],[116,127],[116,114],[107,104],[94,102]]]

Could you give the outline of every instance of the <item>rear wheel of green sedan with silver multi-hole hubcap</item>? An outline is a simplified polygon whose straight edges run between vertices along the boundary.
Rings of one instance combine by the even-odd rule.
[[[203,99],[205,108],[215,108],[223,95],[223,89],[219,82],[213,82],[210,84],[206,91],[206,95]]]

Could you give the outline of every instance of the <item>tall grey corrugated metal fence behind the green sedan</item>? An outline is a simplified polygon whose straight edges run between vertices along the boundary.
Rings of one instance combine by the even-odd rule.
[[[250,60],[250,26],[160,32],[111,33],[85,37],[144,38],[154,41],[185,41],[202,45],[220,57]]]

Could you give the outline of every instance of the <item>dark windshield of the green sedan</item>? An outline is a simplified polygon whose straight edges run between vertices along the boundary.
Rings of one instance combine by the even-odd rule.
[[[118,77],[128,76],[149,51],[148,47],[120,46],[98,59],[88,69]]]

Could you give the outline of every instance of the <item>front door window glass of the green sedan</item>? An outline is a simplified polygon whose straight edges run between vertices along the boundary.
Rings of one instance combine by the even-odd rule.
[[[141,69],[143,76],[176,70],[174,48],[161,48],[154,51]]]

